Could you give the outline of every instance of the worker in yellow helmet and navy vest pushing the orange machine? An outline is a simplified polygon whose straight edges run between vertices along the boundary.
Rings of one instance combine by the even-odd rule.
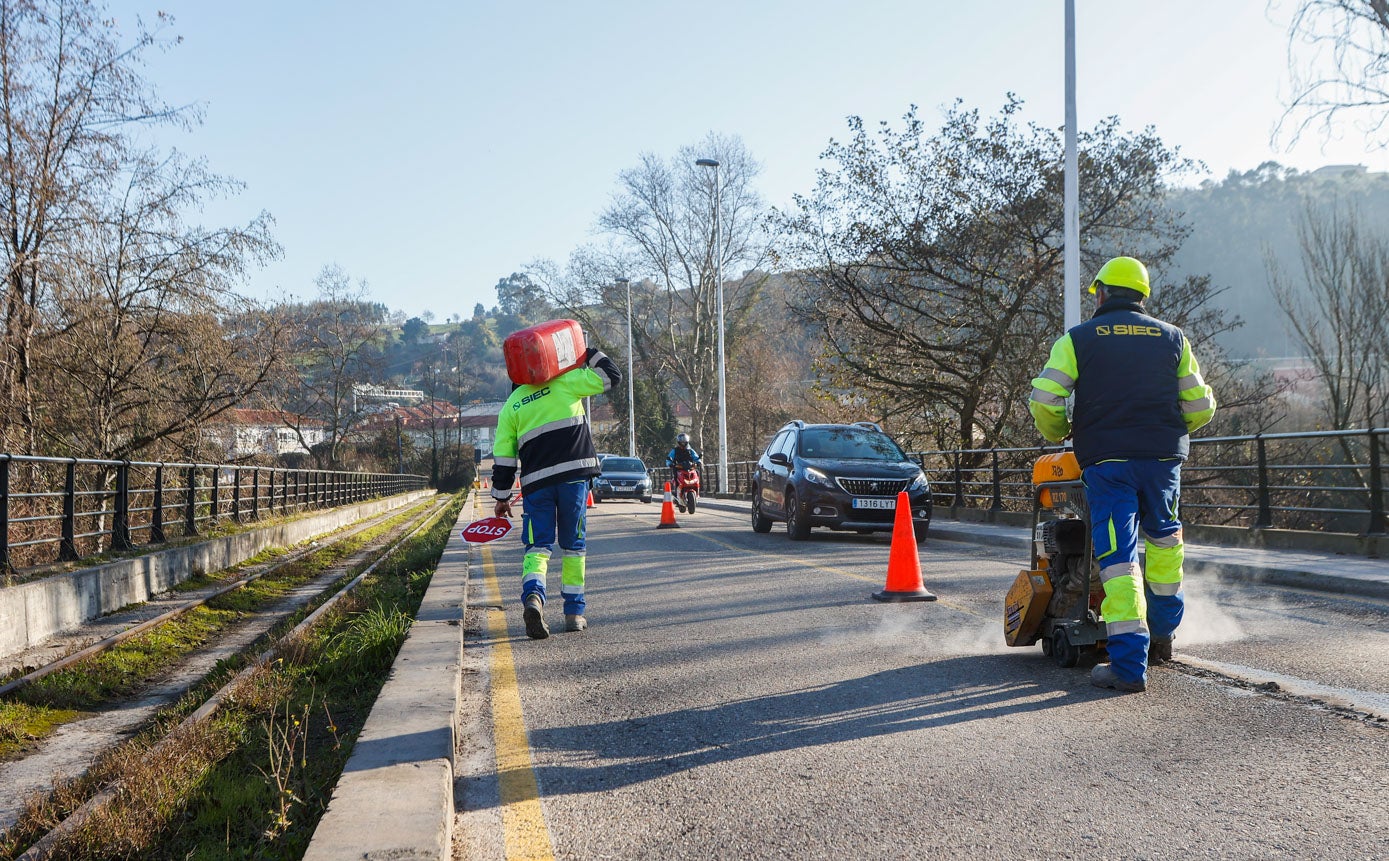
[[[1182,622],[1182,461],[1189,435],[1215,414],[1215,396],[1186,335],[1143,307],[1151,287],[1140,261],[1110,260],[1089,292],[1095,315],[1051,346],[1028,407],[1042,436],[1075,440],[1082,469],[1110,655],[1090,682],[1140,692],[1149,665],[1171,660]]]

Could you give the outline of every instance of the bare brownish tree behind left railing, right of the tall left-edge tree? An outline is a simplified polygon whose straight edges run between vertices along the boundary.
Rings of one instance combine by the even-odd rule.
[[[278,253],[268,217],[201,229],[182,212],[233,183],[150,153],[89,189],[106,208],[51,243],[63,262],[43,311],[36,407],[51,453],[119,458],[185,437],[265,385],[279,361],[272,318],[235,294],[247,265]]]

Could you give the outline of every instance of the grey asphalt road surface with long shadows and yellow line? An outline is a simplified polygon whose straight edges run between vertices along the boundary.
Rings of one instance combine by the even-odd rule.
[[[1189,578],[1142,694],[1003,644],[1017,551],[589,511],[589,621],[474,555],[456,857],[1386,858],[1389,607]],[[494,610],[504,607],[504,611]]]

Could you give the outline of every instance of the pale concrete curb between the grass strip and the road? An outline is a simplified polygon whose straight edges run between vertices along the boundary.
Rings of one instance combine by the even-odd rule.
[[[464,507],[390,676],[353,744],[304,858],[453,854],[453,751],[461,694],[468,544]]]

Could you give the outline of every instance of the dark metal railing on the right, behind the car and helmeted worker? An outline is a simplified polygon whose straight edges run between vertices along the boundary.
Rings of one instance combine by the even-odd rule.
[[[1213,526],[1386,533],[1389,428],[1257,433],[1192,440],[1182,519]],[[1029,511],[1032,461],[1058,446],[951,449],[911,457],[936,505]],[[756,461],[729,464],[729,490],[751,494]]]

